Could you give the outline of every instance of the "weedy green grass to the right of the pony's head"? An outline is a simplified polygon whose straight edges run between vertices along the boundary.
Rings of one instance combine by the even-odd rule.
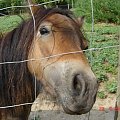
[[[101,48],[91,52],[86,51],[86,55],[92,62],[92,69],[96,74],[99,82],[108,81],[110,78],[108,74],[117,75],[118,66],[118,31],[119,26],[108,24],[96,24],[94,26],[94,33],[90,32],[90,24],[85,24],[86,37],[89,42],[92,41],[92,48]],[[108,47],[108,48],[107,48]],[[102,49],[103,48],[103,49]]]

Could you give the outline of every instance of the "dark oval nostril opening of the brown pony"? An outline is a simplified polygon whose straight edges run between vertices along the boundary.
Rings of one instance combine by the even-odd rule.
[[[73,79],[73,91],[75,95],[80,95],[82,91],[82,85],[77,75]]]

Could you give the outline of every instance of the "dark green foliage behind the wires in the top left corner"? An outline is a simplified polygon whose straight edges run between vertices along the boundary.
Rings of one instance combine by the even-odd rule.
[[[45,2],[50,2],[53,0],[30,0],[34,4],[40,4]],[[47,7],[55,6],[57,3],[63,2],[63,4],[66,4],[66,0],[60,0],[59,2],[52,2],[49,4],[46,4]],[[68,0],[68,2],[71,2],[71,0]],[[28,5],[27,0],[0,0],[0,9],[11,7],[11,6],[22,6],[22,5]],[[4,9],[0,13],[2,14],[18,14],[21,12],[26,12],[26,8],[20,8],[20,7],[13,7],[9,9]]]

